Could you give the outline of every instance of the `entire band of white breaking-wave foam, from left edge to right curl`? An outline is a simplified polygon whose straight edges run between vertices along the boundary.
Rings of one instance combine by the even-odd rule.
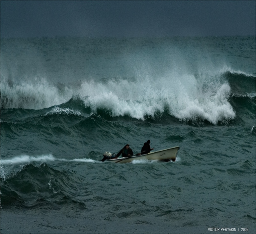
[[[40,109],[65,103],[76,94],[93,113],[106,109],[112,117],[129,115],[144,120],[145,116],[155,117],[156,113],[167,110],[181,121],[200,118],[217,124],[235,118],[228,102],[230,85],[222,78],[225,71],[206,71],[197,77],[185,71],[171,71],[161,77],[138,75],[133,81],[84,81],[80,87],[62,88],[62,93],[45,80],[34,84],[23,82],[12,87],[4,81],[1,97],[7,97],[7,108]],[[71,108],[56,107],[52,113],[81,114]]]

